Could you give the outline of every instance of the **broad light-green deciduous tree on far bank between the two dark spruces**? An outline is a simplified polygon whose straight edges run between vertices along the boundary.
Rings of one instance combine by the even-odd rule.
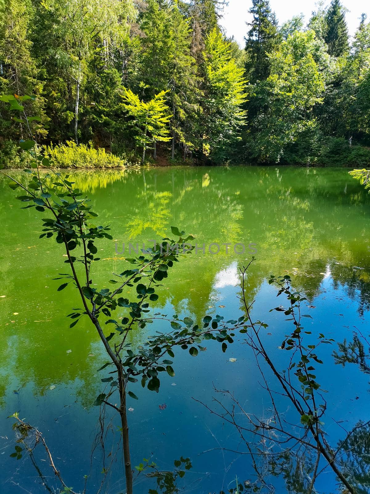
[[[270,76],[255,89],[261,109],[251,135],[251,153],[258,161],[277,163],[292,144],[317,140],[312,139],[318,127],[312,111],[322,104],[325,88],[316,61],[319,54],[320,43],[313,31],[296,31],[268,54]]]

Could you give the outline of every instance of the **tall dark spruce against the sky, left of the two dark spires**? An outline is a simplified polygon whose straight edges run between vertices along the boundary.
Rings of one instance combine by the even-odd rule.
[[[277,20],[268,0],[252,0],[249,10],[253,14],[248,37],[245,38],[247,53],[246,72],[251,82],[262,81],[269,75],[267,52],[273,51],[277,43]]]

